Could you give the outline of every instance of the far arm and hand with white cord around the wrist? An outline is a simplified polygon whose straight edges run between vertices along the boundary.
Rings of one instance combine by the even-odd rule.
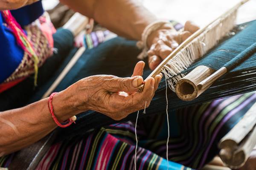
[[[141,40],[145,27],[157,20],[157,17],[143,7],[139,0],[61,0],[61,2],[95,19],[116,34],[134,40]],[[154,70],[181,42],[198,29],[195,24],[187,22],[184,31],[177,32],[170,24],[164,24],[150,34],[147,45],[150,48],[148,65],[151,70]]]

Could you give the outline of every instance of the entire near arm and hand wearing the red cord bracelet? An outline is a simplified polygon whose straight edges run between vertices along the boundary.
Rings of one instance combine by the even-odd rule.
[[[138,62],[131,78],[111,75],[86,77],[53,97],[52,105],[61,122],[78,113],[93,110],[115,120],[141,110],[150,104],[161,76],[146,80],[142,93],[137,87],[143,82],[145,63]],[[121,91],[127,93],[119,93]],[[48,98],[9,111],[0,112],[0,156],[37,142],[57,126],[48,108]]]

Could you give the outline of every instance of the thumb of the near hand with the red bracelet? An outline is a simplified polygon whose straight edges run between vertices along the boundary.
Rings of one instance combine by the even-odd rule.
[[[141,76],[120,78],[116,77],[108,80],[107,90],[109,92],[121,92],[134,93],[137,92],[137,87],[143,83]]]

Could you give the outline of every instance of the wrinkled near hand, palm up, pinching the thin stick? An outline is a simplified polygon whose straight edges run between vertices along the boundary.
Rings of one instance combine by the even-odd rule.
[[[148,107],[162,76],[147,79],[143,92],[138,93],[137,87],[143,83],[144,66],[144,62],[138,62],[132,77],[96,75],[81,79],[73,85],[73,96],[79,96],[74,105],[81,111],[98,111],[115,120]]]

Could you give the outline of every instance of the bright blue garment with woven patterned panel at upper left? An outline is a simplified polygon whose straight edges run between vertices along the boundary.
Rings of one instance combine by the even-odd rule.
[[[49,20],[42,16],[43,13],[41,1],[9,13],[10,17],[13,15],[17,21],[17,23],[14,21],[17,29],[24,31],[26,39],[32,45],[38,59],[37,67],[40,67],[52,54],[52,34],[55,31]],[[21,82],[30,74],[35,73],[35,61],[29,52],[24,51],[20,44],[17,43],[14,30],[6,24],[8,22],[6,22],[6,18],[2,14],[0,14],[0,53],[2,54],[0,62],[0,93]],[[48,28],[46,26],[47,23]]]

